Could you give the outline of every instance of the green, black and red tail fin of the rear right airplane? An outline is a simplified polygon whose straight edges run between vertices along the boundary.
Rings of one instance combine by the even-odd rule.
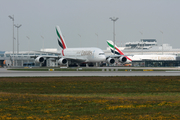
[[[107,44],[109,45],[112,53],[114,53],[114,50],[115,50],[115,54],[117,54],[117,55],[124,55],[124,53],[120,49],[118,49],[118,47],[116,45],[114,45],[113,41],[107,40]],[[125,56],[125,57],[128,60],[132,61],[129,57],[127,57],[127,56]]]

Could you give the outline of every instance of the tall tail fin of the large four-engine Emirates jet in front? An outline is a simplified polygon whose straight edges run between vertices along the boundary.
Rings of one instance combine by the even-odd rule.
[[[58,44],[59,46],[62,48],[62,49],[66,49],[67,46],[66,46],[66,43],[64,41],[64,38],[63,38],[63,35],[61,33],[61,30],[60,30],[60,27],[59,26],[56,26],[56,33],[57,33],[57,36],[58,36]]]

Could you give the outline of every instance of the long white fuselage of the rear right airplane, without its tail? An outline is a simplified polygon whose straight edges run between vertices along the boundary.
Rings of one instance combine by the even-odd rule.
[[[139,60],[176,60],[175,55],[134,55],[128,56],[132,61]],[[127,62],[131,62],[127,60]]]

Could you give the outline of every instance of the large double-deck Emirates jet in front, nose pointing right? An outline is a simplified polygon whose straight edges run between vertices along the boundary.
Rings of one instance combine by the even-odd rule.
[[[58,59],[60,65],[73,65],[73,64],[88,64],[95,62],[105,62],[106,56],[104,52],[95,47],[89,48],[68,48],[64,38],[62,36],[59,26],[56,26],[56,34],[58,36],[58,44],[62,49],[59,53],[59,56],[37,56],[35,62],[43,63],[47,58]],[[107,59],[108,63],[114,63],[110,58]]]

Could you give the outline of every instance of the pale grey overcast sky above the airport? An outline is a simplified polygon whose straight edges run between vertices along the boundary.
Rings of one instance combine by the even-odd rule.
[[[115,22],[118,46],[141,38],[154,38],[158,45],[164,41],[180,48],[179,6],[180,0],[0,0],[0,51],[12,51],[9,15],[14,15],[15,24],[22,24],[20,51],[28,51],[28,46],[30,50],[40,50],[43,40],[45,48],[60,49],[56,25],[60,26],[68,47],[104,50],[106,40],[113,40],[110,17],[119,18]],[[17,28],[14,30],[17,38]]]

